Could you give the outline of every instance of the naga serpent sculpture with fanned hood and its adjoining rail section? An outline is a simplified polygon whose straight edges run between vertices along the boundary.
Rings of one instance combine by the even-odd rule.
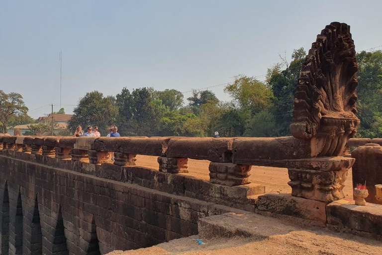
[[[350,26],[332,22],[305,57],[294,97],[292,136],[237,140],[237,163],[275,165],[283,160],[338,156],[357,132],[358,65]],[[240,149],[245,146],[246,149]],[[235,161],[235,159],[234,159]],[[279,162],[279,163],[278,163]]]

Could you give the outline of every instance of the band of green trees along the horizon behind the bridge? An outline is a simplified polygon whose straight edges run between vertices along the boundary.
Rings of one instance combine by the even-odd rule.
[[[78,125],[98,126],[102,135],[116,125],[124,136],[284,136],[290,135],[295,88],[305,59],[303,48],[280,56],[267,71],[265,81],[238,75],[224,88],[231,101],[222,102],[210,90],[194,90],[184,103],[175,89],[123,88],[114,96],[93,91],[80,99],[69,122],[71,133]],[[358,137],[382,137],[382,52],[357,54]],[[0,91],[0,127],[33,122],[17,93]],[[60,109],[56,114],[65,114]],[[31,133],[50,130],[51,125],[31,128]]]

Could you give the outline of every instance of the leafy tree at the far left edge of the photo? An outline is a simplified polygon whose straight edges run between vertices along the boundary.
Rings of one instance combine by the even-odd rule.
[[[28,108],[20,94],[6,94],[0,90],[0,124],[3,133],[6,133],[11,118],[26,115],[27,112]]]

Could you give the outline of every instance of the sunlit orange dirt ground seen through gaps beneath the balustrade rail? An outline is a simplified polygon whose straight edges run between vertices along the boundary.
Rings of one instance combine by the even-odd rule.
[[[136,164],[158,169],[159,164],[156,156],[137,155]],[[188,173],[183,175],[193,176],[200,179],[209,180],[208,160],[189,159]],[[249,179],[252,183],[265,185],[266,193],[291,193],[291,188],[287,184],[289,181],[288,170],[280,167],[252,166]],[[353,183],[352,172],[349,171],[345,182],[344,194],[346,197],[352,197]]]

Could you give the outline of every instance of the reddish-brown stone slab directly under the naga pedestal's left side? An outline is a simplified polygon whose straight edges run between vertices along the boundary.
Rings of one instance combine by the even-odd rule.
[[[290,194],[266,194],[258,197],[256,203],[259,211],[289,215],[312,221],[326,223],[325,206],[328,203]]]

